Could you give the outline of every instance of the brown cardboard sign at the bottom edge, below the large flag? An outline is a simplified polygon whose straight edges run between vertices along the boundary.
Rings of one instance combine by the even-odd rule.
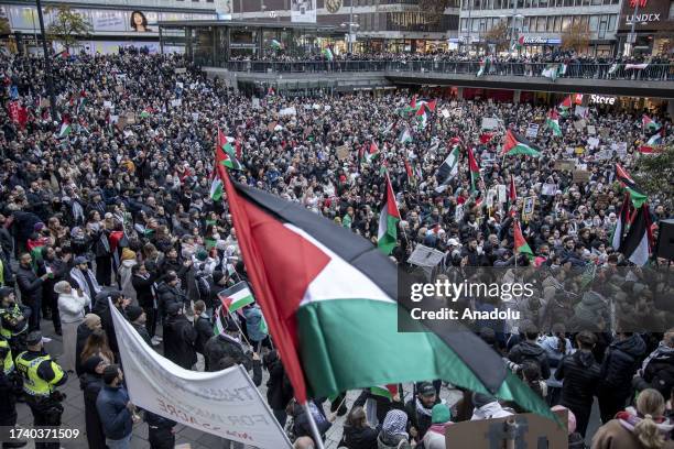
[[[526,413],[507,418],[469,420],[445,427],[447,449],[455,448],[547,448],[567,449],[568,436],[567,412],[559,416],[562,426],[541,415]],[[507,421],[512,423],[513,427]],[[513,429],[514,431],[510,431]],[[514,434],[514,441],[509,445],[509,435]]]

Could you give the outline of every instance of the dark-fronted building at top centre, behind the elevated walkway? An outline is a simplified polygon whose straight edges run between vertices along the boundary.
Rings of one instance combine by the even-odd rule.
[[[222,1],[222,0],[221,0]],[[336,26],[338,52],[430,52],[457,37],[460,0],[224,0],[236,20]],[[349,33],[349,30],[351,33]]]

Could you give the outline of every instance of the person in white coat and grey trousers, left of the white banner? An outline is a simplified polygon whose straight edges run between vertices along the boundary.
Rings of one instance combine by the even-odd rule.
[[[75,350],[77,347],[77,327],[84,321],[85,307],[91,306],[91,299],[81,291],[73,289],[67,281],[57,282],[54,292],[58,294],[58,314],[63,332],[63,355],[58,363],[66,371],[75,371]]]

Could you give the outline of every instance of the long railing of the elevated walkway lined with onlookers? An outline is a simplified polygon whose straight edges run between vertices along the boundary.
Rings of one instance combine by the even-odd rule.
[[[208,65],[208,62],[196,61]],[[204,64],[206,63],[206,64]],[[491,63],[483,76],[522,76],[544,77],[547,63]],[[304,62],[262,62],[262,61],[229,61],[220,63],[220,67],[230,72],[274,73],[274,74],[330,74],[358,72],[400,72],[475,75],[480,69],[479,62],[446,62],[446,61],[304,61]],[[629,79],[668,81],[674,80],[674,64],[651,64],[645,68],[627,68],[624,64],[613,67],[612,64],[568,64],[558,78],[586,79]]]

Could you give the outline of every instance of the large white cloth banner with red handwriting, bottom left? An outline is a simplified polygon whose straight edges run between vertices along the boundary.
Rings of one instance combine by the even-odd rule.
[[[109,307],[133,405],[251,447],[291,447],[246,369],[185,370],[148,346],[111,300]]]

